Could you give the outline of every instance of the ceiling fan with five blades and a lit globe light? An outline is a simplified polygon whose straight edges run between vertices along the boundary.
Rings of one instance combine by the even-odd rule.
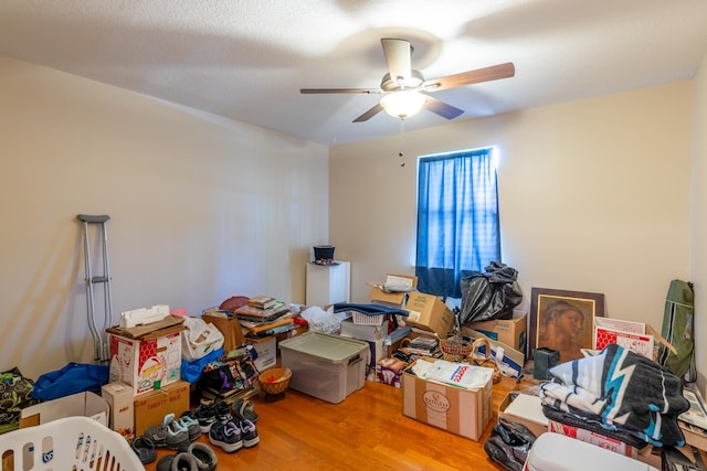
[[[513,77],[516,73],[511,62],[461,72],[458,74],[425,81],[419,71],[411,66],[413,47],[407,40],[383,38],[380,40],[388,63],[388,73],[383,75],[380,88],[302,88],[303,94],[382,94],[380,103],[356,118],[354,122],[367,121],[380,111],[405,119],[421,108],[425,108],[446,119],[454,119],[464,110],[439,100],[429,93],[462,87],[482,82]]]

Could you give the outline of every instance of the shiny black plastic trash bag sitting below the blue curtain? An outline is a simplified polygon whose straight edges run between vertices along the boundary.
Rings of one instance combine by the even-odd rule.
[[[460,325],[469,322],[510,319],[513,308],[523,301],[518,271],[499,261],[493,261],[485,272],[475,271],[462,278]]]

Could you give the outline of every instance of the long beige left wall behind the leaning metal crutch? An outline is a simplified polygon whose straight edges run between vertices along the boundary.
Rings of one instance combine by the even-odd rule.
[[[0,104],[2,371],[93,360],[78,213],[112,217],[116,322],[233,295],[304,302],[326,147],[2,56]]]

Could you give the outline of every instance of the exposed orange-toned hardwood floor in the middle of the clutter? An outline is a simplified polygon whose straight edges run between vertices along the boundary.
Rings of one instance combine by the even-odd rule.
[[[257,396],[260,443],[232,454],[215,447],[217,470],[503,470],[483,445],[513,385],[494,385],[494,416],[478,442],[403,416],[402,389],[379,383],[366,382],[339,404],[293,389],[276,403]],[[158,459],[168,453],[159,449]]]

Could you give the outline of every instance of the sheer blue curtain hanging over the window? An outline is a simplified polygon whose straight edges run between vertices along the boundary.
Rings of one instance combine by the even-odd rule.
[[[493,149],[420,159],[418,289],[461,298],[460,281],[500,260]]]

